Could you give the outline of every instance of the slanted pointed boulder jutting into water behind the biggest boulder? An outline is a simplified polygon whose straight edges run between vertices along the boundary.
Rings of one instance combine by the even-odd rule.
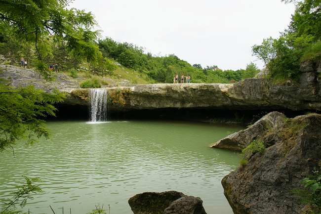
[[[283,125],[285,115],[280,112],[271,112],[244,130],[235,132],[217,141],[211,147],[230,150],[241,150],[255,139],[260,139],[272,128]]]

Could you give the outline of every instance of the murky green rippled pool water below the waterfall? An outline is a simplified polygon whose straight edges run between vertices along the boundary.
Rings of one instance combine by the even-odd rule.
[[[44,193],[26,209],[49,205],[85,214],[97,204],[111,214],[131,214],[127,200],[145,191],[177,190],[201,197],[208,214],[232,214],[221,179],[236,168],[234,152],[208,147],[240,127],[178,122],[48,122],[51,139],[15,146],[0,156],[0,199],[22,175],[40,177]],[[57,213],[57,212],[56,212]]]

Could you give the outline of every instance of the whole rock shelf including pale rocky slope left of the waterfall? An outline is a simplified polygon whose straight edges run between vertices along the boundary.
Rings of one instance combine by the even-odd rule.
[[[235,84],[149,84],[105,86],[112,111],[163,108],[208,108],[230,110],[290,109],[321,111],[320,66],[304,65],[299,82],[275,84],[269,79],[245,79]],[[34,85],[50,91],[68,92],[66,105],[88,105],[89,89],[64,74],[46,82],[33,70],[0,65],[0,78],[13,86]]]

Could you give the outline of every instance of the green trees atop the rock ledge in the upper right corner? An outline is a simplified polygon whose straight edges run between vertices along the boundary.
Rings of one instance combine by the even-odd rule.
[[[321,0],[282,0],[296,5],[291,22],[278,39],[253,46],[273,78],[297,79],[300,63],[321,60]]]

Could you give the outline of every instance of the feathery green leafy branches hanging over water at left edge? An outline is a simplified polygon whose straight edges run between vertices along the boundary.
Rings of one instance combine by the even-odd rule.
[[[0,84],[0,152],[14,151],[18,139],[30,144],[37,138],[48,138],[43,119],[54,116],[53,105],[63,99],[59,91],[46,93],[34,86],[14,88]]]

